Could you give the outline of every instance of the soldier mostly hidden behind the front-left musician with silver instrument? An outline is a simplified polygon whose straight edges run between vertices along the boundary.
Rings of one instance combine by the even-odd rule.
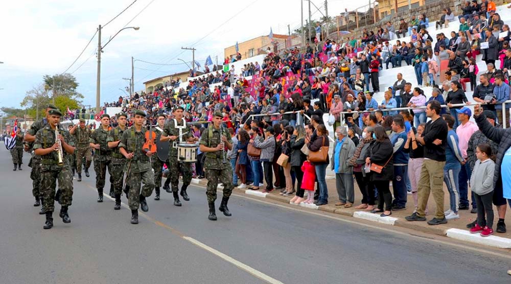
[[[50,114],[48,113],[51,109],[57,109],[54,105],[48,105],[46,108],[46,117],[43,117],[39,121],[34,122],[30,129],[25,133],[25,141],[27,142],[27,152],[31,153],[34,147],[35,135],[37,131],[48,125]],[[44,215],[44,199],[42,198],[42,191],[40,190],[41,183],[41,156],[32,154],[32,158],[29,161],[29,167],[32,168],[30,171],[30,178],[32,179],[32,195],[35,198],[34,206],[41,205],[39,215]]]

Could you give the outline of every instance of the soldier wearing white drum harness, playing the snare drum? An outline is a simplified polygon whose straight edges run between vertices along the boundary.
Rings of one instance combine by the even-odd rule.
[[[192,143],[197,140],[193,137],[190,127],[187,122],[183,119],[183,108],[178,106],[174,109],[174,119],[169,121],[165,125],[164,132],[161,134],[160,141],[170,141],[169,148],[169,171],[170,179],[167,178],[164,188],[167,190],[168,182],[170,180],[172,184],[172,193],[174,194],[174,205],[181,206],[179,201],[179,195],[177,193],[179,186],[179,171],[183,174],[183,185],[181,186],[181,196],[185,201],[189,201],[190,198],[187,194],[187,187],[192,181],[192,163],[191,162],[179,162],[177,159],[177,144],[180,143]],[[179,135],[181,135],[179,137]],[[167,190],[167,192],[169,192]]]

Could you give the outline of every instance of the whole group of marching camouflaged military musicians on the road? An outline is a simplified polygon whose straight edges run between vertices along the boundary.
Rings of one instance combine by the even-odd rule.
[[[164,165],[169,170],[163,188],[173,194],[174,205],[182,206],[179,196],[190,201],[187,188],[192,180],[192,164],[197,160],[197,151],[205,153],[204,170],[208,179],[207,202],[209,220],[217,220],[215,212],[216,190],[223,183],[223,198],[219,210],[231,216],[227,208],[233,190],[233,173],[226,159],[227,150],[233,141],[221,126],[222,113],[215,117],[207,131],[199,139],[183,119],[183,108],[173,110],[174,118],[166,122],[166,114],[159,114],[155,126],[146,125],[146,113],[137,110],[132,115],[132,126],[128,115],[116,115],[118,126],[110,126],[110,116],[100,116],[100,127],[90,130],[86,121],[77,125],[61,126],[62,113],[54,105],[48,105],[43,119],[32,124],[23,135],[15,131],[15,146],[11,150],[13,171],[22,170],[22,151],[31,153],[29,167],[33,183],[34,206],[41,206],[40,215],[45,215],[43,228],[53,227],[55,201],[60,204],[59,217],[71,223],[69,206],[73,201],[73,180],[82,181],[82,166],[86,177],[91,161],[96,172],[97,202],[103,202],[106,172],[110,175],[110,193],[115,199],[114,210],[121,209],[123,192],[131,210],[131,224],[138,224],[138,208],[149,211],[147,198],[155,191],[154,200],[160,200],[160,186]],[[199,146],[200,145],[200,146]],[[179,191],[179,177],[182,177]],[[170,184],[170,186],[169,186]],[[123,187],[124,185],[124,187]]]

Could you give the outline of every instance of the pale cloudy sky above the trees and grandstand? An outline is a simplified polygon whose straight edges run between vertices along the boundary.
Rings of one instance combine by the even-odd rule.
[[[125,96],[128,86],[123,78],[131,77],[131,57],[135,59],[176,64],[171,66],[135,62],[135,90],[143,82],[160,76],[186,71],[181,61],[195,58],[204,65],[207,56],[215,63],[223,58],[223,50],[254,37],[287,34],[300,26],[300,0],[18,0],[5,1],[0,9],[2,27],[0,44],[0,107],[20,107],[27,91],[42,83],[46,74],[63,73],[85,48],[99,25],[102,44],[124,27],[103,49],[101,55],[101,104]],[[324,1],[312,1],[312,18],[324,14]],[[368,1],[367,1],[368,3]],[[329,16],[344,8],[353,10],[360,2],[328,1]],[[308,18],[308,3],[304,1],[304,25]],[[107,23],[109,22],[109,23]],[[106,24],[106,26],[105,26]],[[87,46],[77,62],[68,69],[79,83],[84,95],[82,104],[96,105],[98,35]]]

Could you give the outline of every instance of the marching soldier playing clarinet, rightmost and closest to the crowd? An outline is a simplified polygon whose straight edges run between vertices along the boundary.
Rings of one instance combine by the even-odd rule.
[[[223,183],[223,198],[220,204],[220,211],[225,216],[231,216],[227,208],[230,194],[233,192],[233,169],[229,160],[226,158],[226,148],[233,149],[233,140],[227,129],[222,124],[223,114],[219,111],[215,112],[213,124],[202,132],[200,137],[199,150],[204,153],[206,159],[204,161],[205,177],[207,179],[206,196],[207,203],[210,206],[210,220],[217,220],[215,213],[215,200],[217,199],[218,183]]]

